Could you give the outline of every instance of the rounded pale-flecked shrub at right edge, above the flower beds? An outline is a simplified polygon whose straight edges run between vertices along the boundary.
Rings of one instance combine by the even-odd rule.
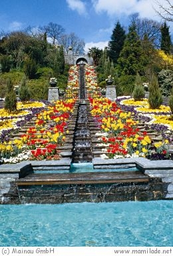
[[[162,95],[169,96],[173,85],[173,71],[170,69],[162,69],[158,73],[158,83],[162,90]]]

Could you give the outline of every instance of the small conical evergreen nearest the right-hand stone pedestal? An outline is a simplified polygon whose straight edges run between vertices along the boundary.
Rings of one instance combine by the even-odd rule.
[[[134,97],[134,101],[141,101],[145,96],[142,79],[138,73],[136,75],[132,96]]]

